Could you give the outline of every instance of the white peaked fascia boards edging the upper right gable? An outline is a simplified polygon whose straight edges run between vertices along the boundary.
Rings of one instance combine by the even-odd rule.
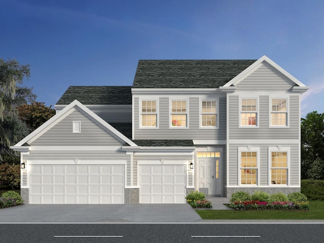
[[[225,84],[223,87],[229,87],[231,85],[237,85],[241,80],[243,80],[245,77],[250,75],[253,71],[255,71],[262,62],[267,62],[272,67],[274,67],[276,70],[278,70],[280,73],[288,77],[292,82],[294,82],[296,85],[300,87],[306,87],[303,83],[301,83],[296,77],[291,75],[289,72],[287,72],[284,68],[280,67],[278,64],[276,64],[274,61],[272,61],[267,56],[262,56],[260,59],[258,59],[255,63],[253,63],[251,66],[247,67],[244,71],[239,73],[237,76],[235,76],[233,79],[231,79],[227,84]]]

